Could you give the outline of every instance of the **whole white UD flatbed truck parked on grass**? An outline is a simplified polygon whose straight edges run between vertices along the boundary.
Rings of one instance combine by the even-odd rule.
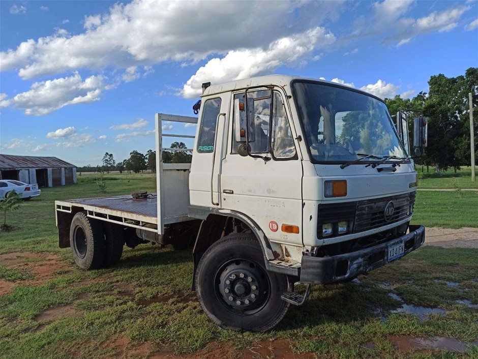
[[[194,243],[192,289],[218,325],[267,331],[311,284],[350,281],[419,248],[406,113],[337,83],[271,75],[203,84],[199,117],[156,114],[157,194],[56,201],[59,247],[85,270],[123,246]],[[162,121],[197,123],[196,136]],[[426,118],[415,119],[416,152]],[[195,137],[191,164],[162,138]],[[306,284],[303,294],[294,284]]]

